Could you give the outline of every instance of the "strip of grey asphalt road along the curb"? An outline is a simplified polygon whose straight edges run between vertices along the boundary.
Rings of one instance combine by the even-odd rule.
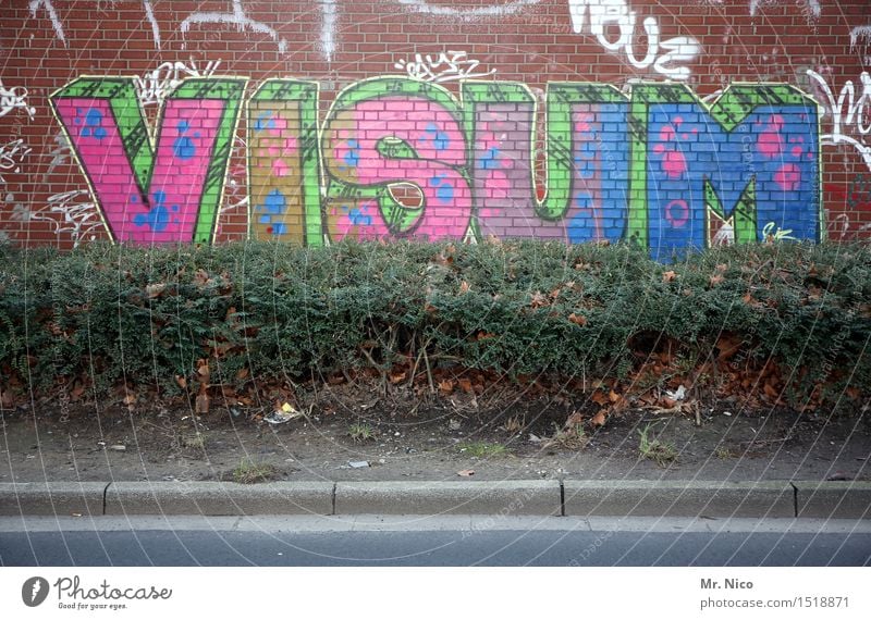
[[[2,566],[871,566],[867,521],[0,519]]]

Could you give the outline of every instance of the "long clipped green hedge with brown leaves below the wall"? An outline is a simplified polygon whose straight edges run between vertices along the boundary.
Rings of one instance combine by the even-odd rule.
[[[663,265],[631,245],[272,243],[69,253],[0,246],[0,370],[50,389],[84,379],[177,394],[211,384],[434,367],[619,376],[674,345],[786,369],[795,402],[871,385],[871,250],[753,245]]]

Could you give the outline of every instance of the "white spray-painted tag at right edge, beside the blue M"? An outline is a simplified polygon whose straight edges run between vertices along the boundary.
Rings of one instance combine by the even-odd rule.
[[[848,79],[835,100],[832,89],[819,73],[808,70],[807,74],[823,95],[823,115],[832,116],[832,133],[820,136],[821,142],[823,145],[846,144],[852,146],[871,170],[871,145],[864,142],[864,136],[871,134],[871,75],[866,71],[859,76],[861,92],[858,98],[852,80]],[[850,126],[860,136],[859,139],[844,134],[845,129]]]

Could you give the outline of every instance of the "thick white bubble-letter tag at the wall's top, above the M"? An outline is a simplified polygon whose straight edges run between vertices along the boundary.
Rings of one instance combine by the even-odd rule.
[[[572,15],[572,26],[577,34],[585,27],[593,35],[599,44],[610,52],[623,51],[629,64],[636,69],[648,69],[673,79],[689,79],[688,66],[679,63],[692,61],[699,53],[699,42],[692,37],[674,37],[660,40],[660,25],[655,17],[646,17],[643,21],[647,36],[647,53],[639,59],[635,54],[635,32],[638,17],[629,9],[628,0],[568,0],[568,11]],[[589,20],[587,18],[589,15]],[[612,40],[612,28],[616,26],[619,38]],[[660,54],[660,48],[665,53]]]

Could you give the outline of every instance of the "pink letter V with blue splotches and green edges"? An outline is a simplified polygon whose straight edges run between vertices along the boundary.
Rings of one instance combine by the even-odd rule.
[[[50,97],[113,239],[212,240],[245,83],[185,80],[157,145],[132,78],[83,77]]]

